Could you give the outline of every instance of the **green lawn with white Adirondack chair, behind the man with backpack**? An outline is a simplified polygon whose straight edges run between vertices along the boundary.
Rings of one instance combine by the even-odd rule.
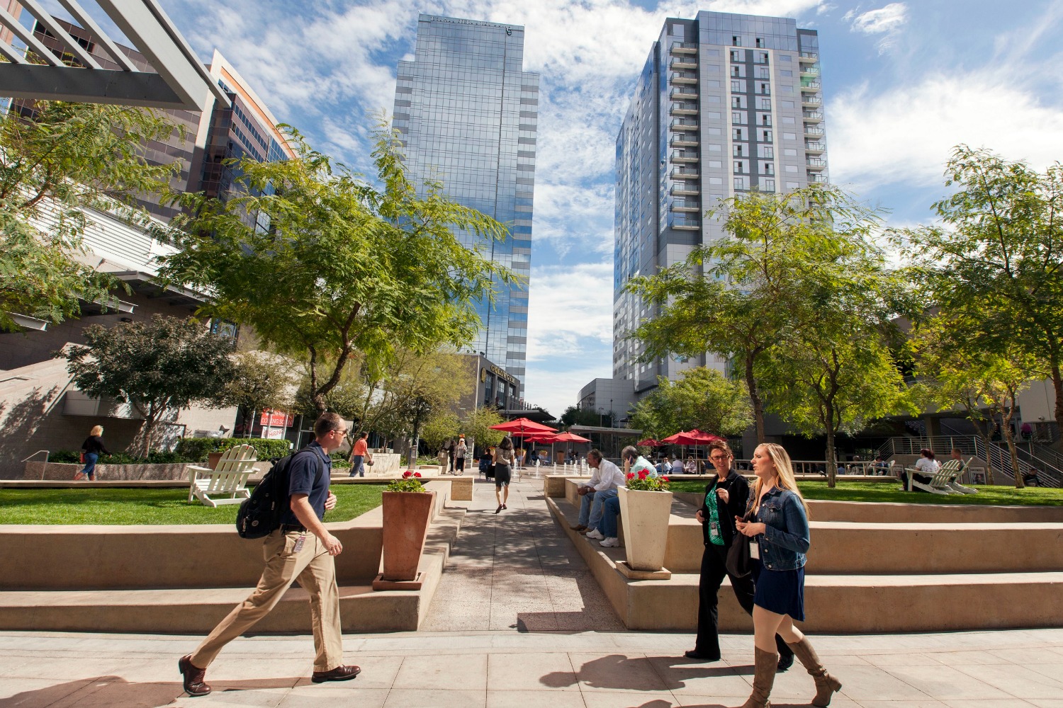
[[[383,484],[337,484],[338,502],[326,521],[348,521],[381,505]],[[170,489],[2,489],[0,523],[230,523],[239,504],[217,508],[188,503],[188,490]]]

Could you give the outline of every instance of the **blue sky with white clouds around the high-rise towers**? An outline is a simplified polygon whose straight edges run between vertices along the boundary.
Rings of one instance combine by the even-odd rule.
[[[957,143],[1039,168],[1063,155],[1061,1],[161,3],[204,61],[217,47],[279,120],[360,169],[418,12],[525,27],[524,68],[542,74],[526,398],[555,415],[611,375],[614,141],[665,17],[738,12],[819,30],[831,182],[889,209],[891,225],[931,219]]]

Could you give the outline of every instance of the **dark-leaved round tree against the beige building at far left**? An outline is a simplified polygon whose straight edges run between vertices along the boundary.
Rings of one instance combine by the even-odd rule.
[[[193,402],[216,405],[232,378],[232,340],[201,323],[155,315],[115,327],[91,325],[85,346],[56,352],[73,384],[89,396],[130,403],[144,416],[140,450],[148,456],[155,427]]]

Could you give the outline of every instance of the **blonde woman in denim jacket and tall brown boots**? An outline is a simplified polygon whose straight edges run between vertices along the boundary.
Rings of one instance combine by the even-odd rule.
[[[815,680],[812,705],[830,704],[842,684],[827,673],[808,638],[794,626],[805,620],[805,554],[810,536],[808,505],[794,480],[790,455],[781,445],[764,443],[753,453],[757,483],[749,497],[745,521],[736,517],[739,533],[750,539],[753,575],[757,591],[753,599],[756,673],[753,693],[742,708],[767,708],[775,683],[778,634],[794,651]],[[752,512],[752,515],[750,515]]]

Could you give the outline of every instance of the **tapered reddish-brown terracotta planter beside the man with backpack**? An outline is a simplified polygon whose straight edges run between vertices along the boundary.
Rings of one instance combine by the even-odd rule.
[[[435,491],[384,493],[384,572],[386,582],[417,580],[428,535]]]

